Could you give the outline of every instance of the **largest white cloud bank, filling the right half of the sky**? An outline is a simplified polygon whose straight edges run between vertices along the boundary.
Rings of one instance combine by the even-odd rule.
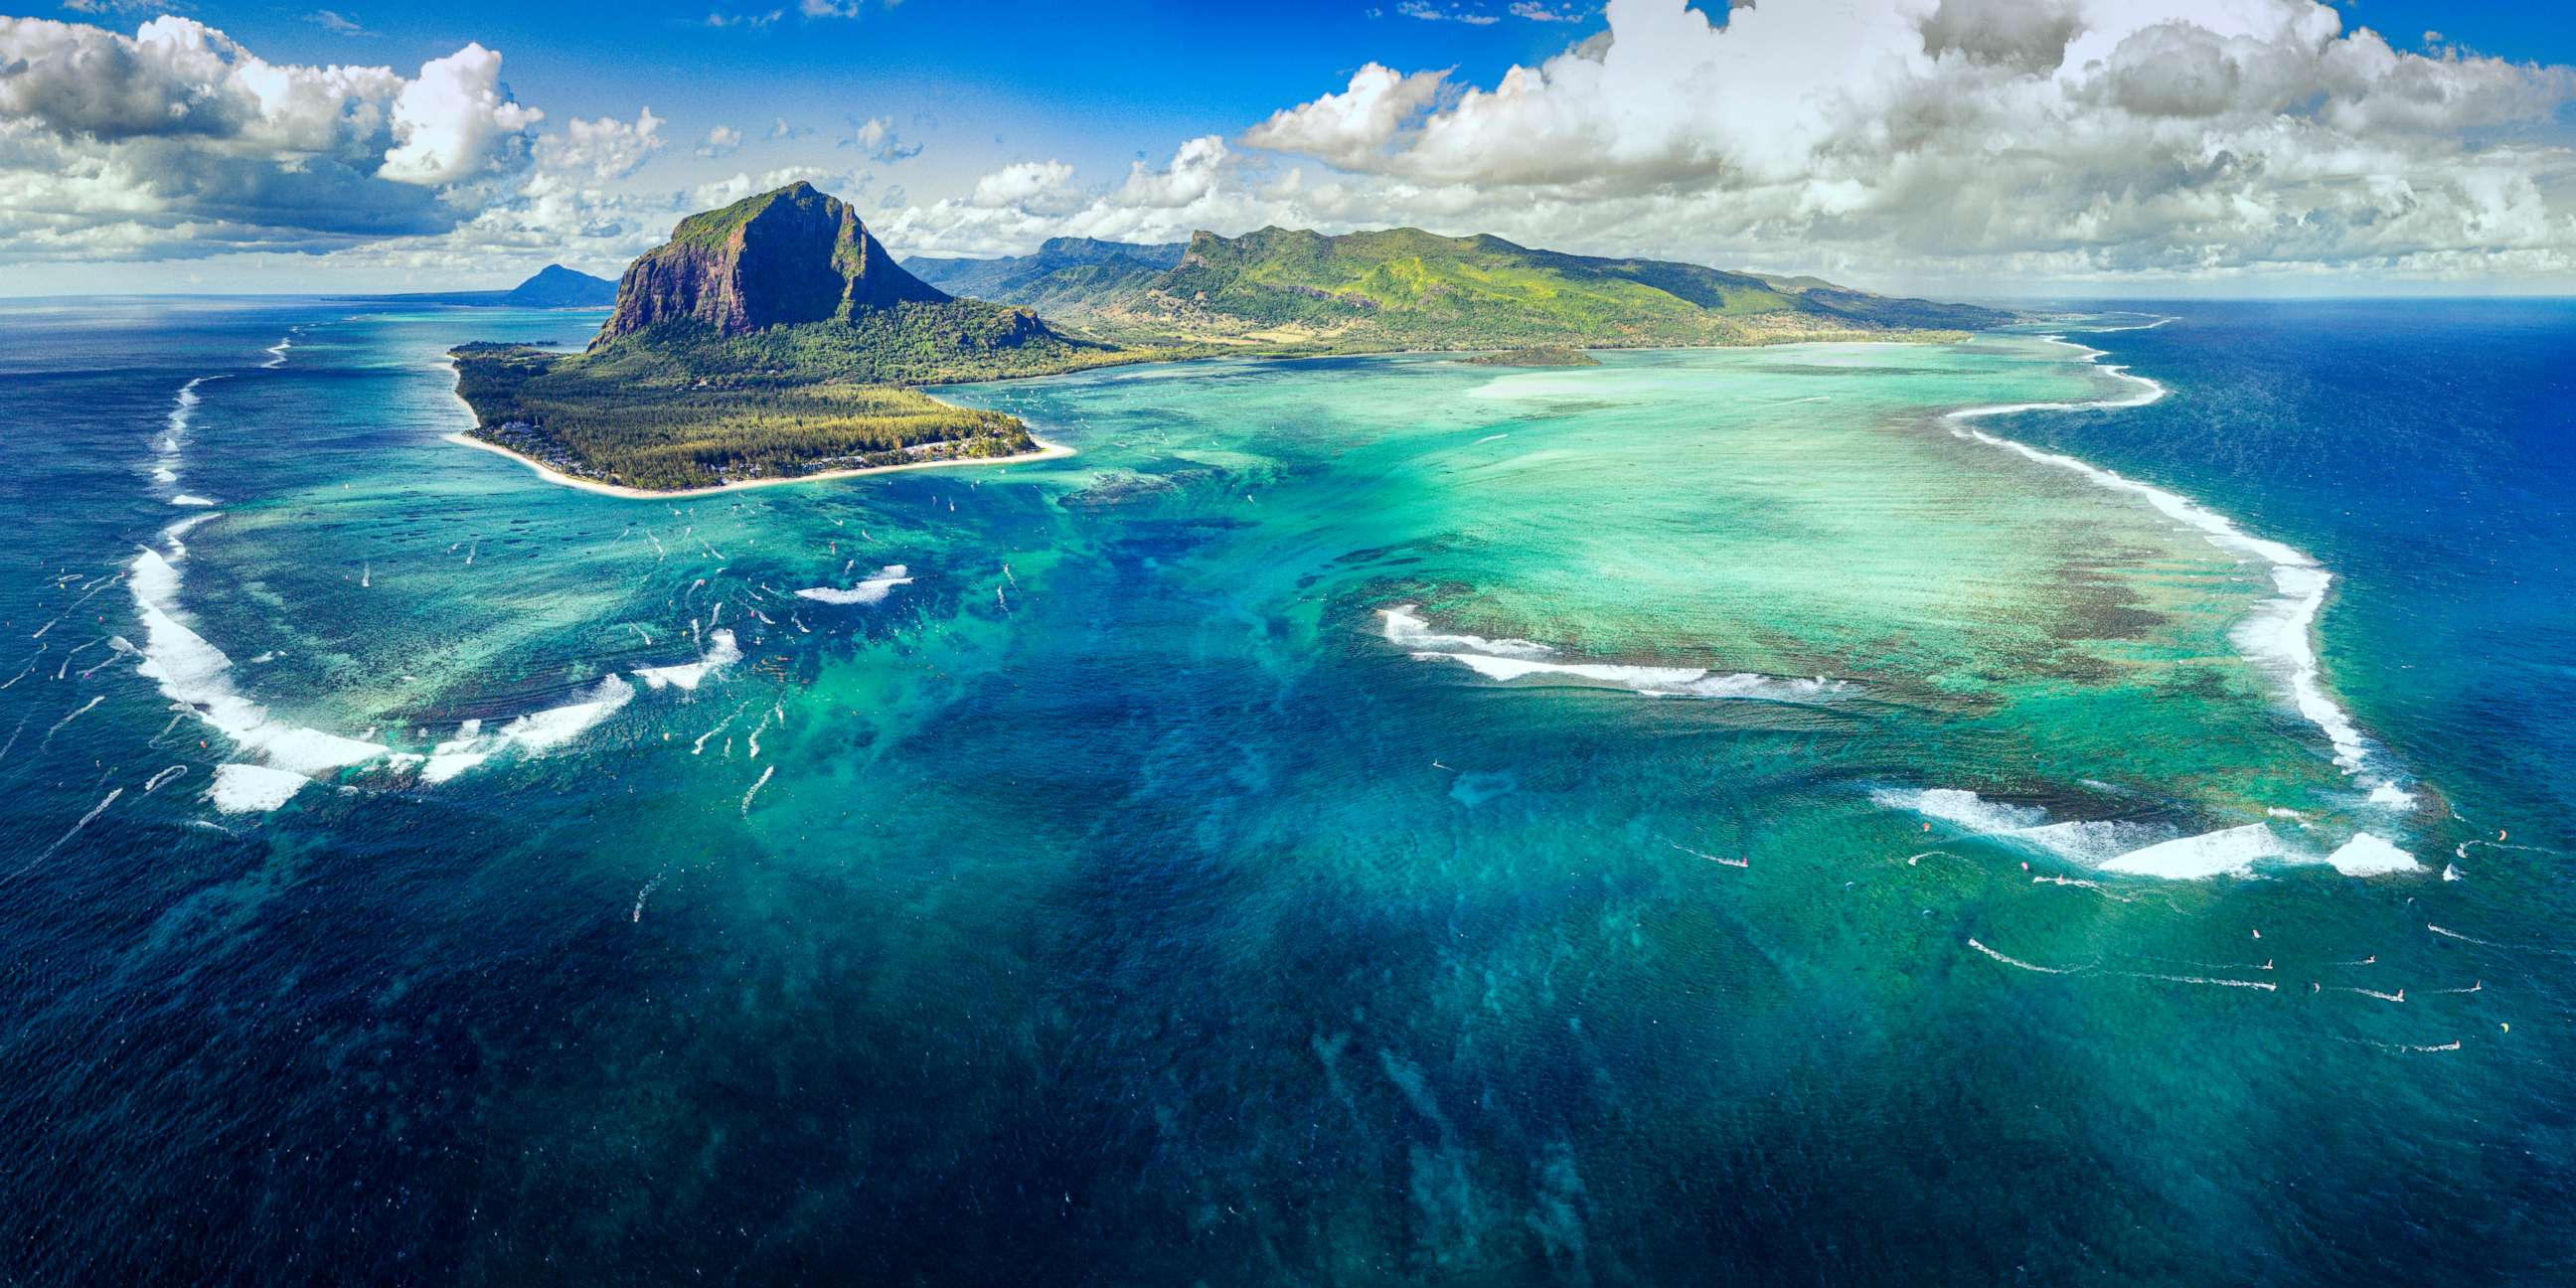
[[[1368,64],[1244,144],[1391,216],[1911,276],[2576,268],[2576,72],[2409,54],[2311,0],[1811,0],[1492,85]]]

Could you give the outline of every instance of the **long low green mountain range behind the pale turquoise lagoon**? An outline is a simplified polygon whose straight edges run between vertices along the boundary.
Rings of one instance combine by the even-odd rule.
[[[1095,247],[1100,242],[1092,242]],[[1167,247],[1133,247],[1164,252]],[[976,263],[976,260],[969,260]],[[1162,273],[1146,255],[1087,247],[935,273],[987,299],[1038,304],[1118,337],[1324,348],[1741,345],[1984,330],[1996,309],[1888,299],[1821,278],[1765,278],[1692,263],[1530,250],[1502,237],[1422,229],[1200,232]],[[1103,270],[1108,265],[1108,270]]]

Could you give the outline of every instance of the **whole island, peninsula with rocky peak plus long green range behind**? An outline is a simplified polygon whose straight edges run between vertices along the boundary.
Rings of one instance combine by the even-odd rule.
[[[577,286],[541,273],[520,291],[538,283]],[[791,183],[683,219],[618,278],[585,350],[448,355],[474,415],[461,440],[572,487],[672,495],[1064,453],[1018,417],[922,392],[940,384],[1388,350],[1597,366],[1587,348],[1958,340],[2009,319],[1422,229],[1059,237],[1010,260],[896,263],[845,201]]]

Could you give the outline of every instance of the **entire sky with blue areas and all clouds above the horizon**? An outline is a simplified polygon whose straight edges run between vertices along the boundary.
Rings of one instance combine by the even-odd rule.
[[[786,178],[899,252],[1422,224],[1981,294],[2576,289],[2558,5],[175,13],[0,18],[0,291],[608,273]]]

